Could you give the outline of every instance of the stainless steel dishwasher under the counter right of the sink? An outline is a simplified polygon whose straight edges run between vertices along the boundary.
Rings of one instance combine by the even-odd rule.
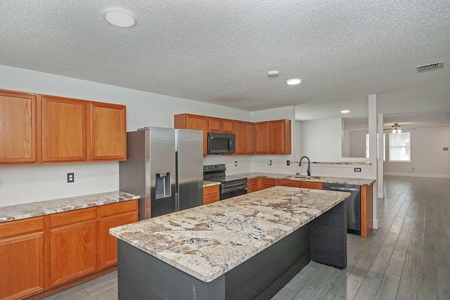
[[[361,235],[361,186],[342,183],[323,183],[323,190],[347,192],[347,233]]]

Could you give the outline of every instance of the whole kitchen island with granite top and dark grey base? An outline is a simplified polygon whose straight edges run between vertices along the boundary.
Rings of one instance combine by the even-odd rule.
[[[347,266],[349,193],[274,187],[111,228],[120,299],[270,299],[309,261]]]

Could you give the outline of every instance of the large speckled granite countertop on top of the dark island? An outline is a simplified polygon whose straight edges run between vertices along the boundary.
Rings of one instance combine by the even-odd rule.
[[[349,195],[276,186],[111,228],[110,234],[210,282]]]

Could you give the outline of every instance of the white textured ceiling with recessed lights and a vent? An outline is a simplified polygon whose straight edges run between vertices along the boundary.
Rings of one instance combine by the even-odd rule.
[[[136,26],[105,22],[111,6]],[[0,65],[240,110],[297,105],[303,120],[364,117],[374,93],[381,113],[450,112],[449,0],[1,0],[0,11]]]

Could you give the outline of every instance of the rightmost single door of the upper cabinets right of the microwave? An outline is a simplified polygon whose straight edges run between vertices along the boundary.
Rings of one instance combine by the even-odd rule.
[[[269,153],[290,154],[290,120],[281,119],[269,122]]]

